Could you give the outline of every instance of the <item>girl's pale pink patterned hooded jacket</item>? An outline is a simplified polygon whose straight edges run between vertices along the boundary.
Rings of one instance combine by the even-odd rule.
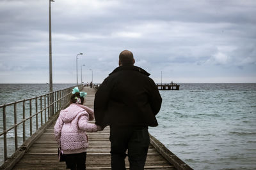
[[[61,110],[54,125],[54,134],[64,154],[86,152],[86,131],[97,132],[97,125],[88,123],[93,118],[93,110],[81,104],[70,104]]]

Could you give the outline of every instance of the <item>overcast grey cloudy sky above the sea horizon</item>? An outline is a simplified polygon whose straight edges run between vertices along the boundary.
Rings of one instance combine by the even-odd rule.
[[[256,1],[55,0],[53,83],[101,83],[122,50],[157,82],[256,83]],[[82,65],[85,66],[82,67]],[[92,70],[90,70],[92,69]],[[49,82],[49,1],[0,1],[0,83]]]

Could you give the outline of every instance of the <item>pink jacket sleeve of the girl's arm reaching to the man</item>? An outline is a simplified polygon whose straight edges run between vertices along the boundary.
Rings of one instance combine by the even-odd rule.
[[[79,129],[86,131],[86,132],[97,132],[97,125],[88,123],[89,115],[81,115],[78,120],[78,127]]]

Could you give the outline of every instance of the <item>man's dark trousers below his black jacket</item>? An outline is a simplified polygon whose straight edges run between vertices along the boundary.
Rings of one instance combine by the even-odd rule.
[[[110,127],[111,168],[125,169],[126,150],[131,170],[144,169],[147,159],[148,127]]]

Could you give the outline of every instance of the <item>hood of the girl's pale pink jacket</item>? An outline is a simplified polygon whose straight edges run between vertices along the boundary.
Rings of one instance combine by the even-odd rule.
[[[69,123],[77,117],[78,113],[85,111],[83,108],[77,106],[77,104],[70,104],[65,110],[61,110],[62,120],[64,123]]]

